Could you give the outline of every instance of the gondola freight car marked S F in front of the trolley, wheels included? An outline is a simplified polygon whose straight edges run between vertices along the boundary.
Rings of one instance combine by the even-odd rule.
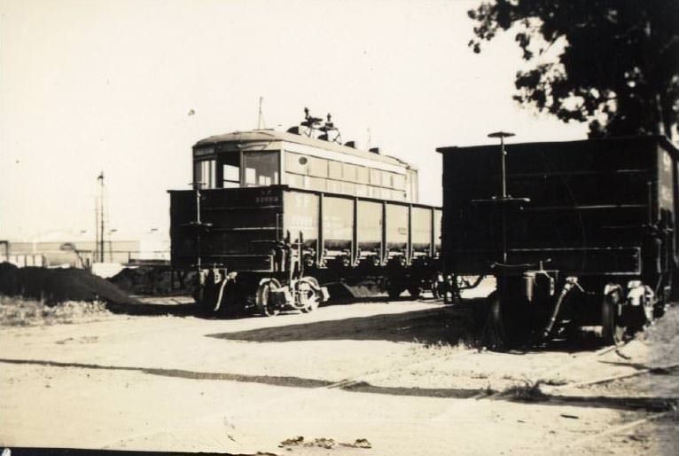
[[[170,216],[173,267],[203,271],[199,301],[215,311],[248,297],[267,315],[312,311],[327,297],[319,279],[361,273],[384,276],[389,295],[417,296],[440,250],[439,208],[285,185],[172,191]],[[295,302],[300,290],[285,292],[301,284]]]

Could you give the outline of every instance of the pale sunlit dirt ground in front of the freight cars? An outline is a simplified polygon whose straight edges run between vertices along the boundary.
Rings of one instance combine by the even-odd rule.
[[[676,334],[618,350],[584,337],[496,353],[466,345],[469,307],[426,299],[233,319],[187,316],[190,304],[179,298],[145,305],[168,315],[2,328],[0,444],[365,456],[677,453]]]

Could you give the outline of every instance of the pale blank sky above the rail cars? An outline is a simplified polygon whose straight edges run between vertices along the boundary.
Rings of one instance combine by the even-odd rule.
[[[513,36],[474,54],[477,0],[0,0],[0,239],[88,230],[104,170],[117,239],[168,231],[191,145],[332,113],[342,138],[410,161],[441,203],[442,145],[585,138],[511,100]],[[187,115],[193,109],[195,115]]]

